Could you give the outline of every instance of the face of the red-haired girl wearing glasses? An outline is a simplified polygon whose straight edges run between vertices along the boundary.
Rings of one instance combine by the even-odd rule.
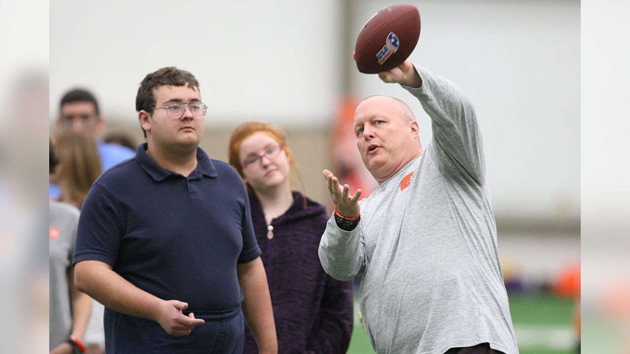
[[[290,161],[271,135],[256,132],[244,139],[239,149],[243,179],[255,191],[290,189]]]

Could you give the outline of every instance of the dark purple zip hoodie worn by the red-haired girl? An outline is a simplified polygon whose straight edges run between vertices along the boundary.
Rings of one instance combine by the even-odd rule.
[[[251,220],[263,251],[278,354],[345,353],[353,326],[352,281],[340,282],[324,272],[318,247],[328,214],[323,205],[293,192],[293,205],[272,220],[273,237],[263,209],[249,194]],[[257,354],[258,346],[245,326],[243,354]]]

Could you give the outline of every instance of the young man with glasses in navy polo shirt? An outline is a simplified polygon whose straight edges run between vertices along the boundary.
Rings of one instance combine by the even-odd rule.
[[[198,147],[198,88],[175,67],[144,78],[136,110],[147,142],[83,205],[75,282],[106,306],[107,353],[241,353],[243,314],[260,353],[277,353],[247,193]]]

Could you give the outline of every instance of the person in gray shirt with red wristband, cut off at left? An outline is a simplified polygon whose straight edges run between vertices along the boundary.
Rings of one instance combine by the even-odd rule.
[[[50,144],[49,173],[57,158]],[[50,354],[72,354],[83,347],[92,299],[74,287],[72,254],[76,241],[79,210],[67,203],[49,202],[49,311]]]

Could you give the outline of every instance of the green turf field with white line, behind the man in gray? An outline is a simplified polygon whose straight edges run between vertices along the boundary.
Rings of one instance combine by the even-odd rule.
[[[573,354],[573,300],[546,292],[511,294],[510,311],[520,354]],[[348,354],[373,354],[370,340],[358,323],[355,302],[355,326]]]

